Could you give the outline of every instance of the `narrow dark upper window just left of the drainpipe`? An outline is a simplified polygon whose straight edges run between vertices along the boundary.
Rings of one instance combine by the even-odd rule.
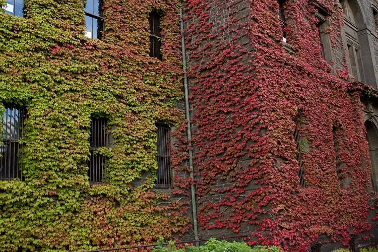
[[[163,60],[163,55],[160,52],[161,41],[163,40],[160,31],[160,19],[161,16],[157,12],[151,12],[148,21],[150,23],[150,57]]]

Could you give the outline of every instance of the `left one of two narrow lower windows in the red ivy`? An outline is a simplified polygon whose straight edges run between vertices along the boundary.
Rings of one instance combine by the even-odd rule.
[[[298,115],[294,119],[295,121],[295,129],[293,132],[294,140],[295,140],[295,159],[298,161],[299,169],[298,169],[298,177],[299,177],[299,185],[301,187],[307,187],[306,180],[305,180],[305,173],[304,173],[304,162],[303,162],[303,154],[305,153],[305,148],[307,145],[306,137],[302,133],[302,123],[303,123],[303,115],[302,113],[298,113]]]

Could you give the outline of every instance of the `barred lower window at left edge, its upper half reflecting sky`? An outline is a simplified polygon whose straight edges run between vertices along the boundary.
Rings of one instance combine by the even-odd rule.
[[[3,133],[0,145],[0,179],[22,179],[22,148],[19,140],[23,137],[26,109],[19,105],[5,105]]]

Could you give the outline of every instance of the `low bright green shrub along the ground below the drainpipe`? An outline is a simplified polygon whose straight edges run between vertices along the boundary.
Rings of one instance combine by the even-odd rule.
[[[267,246],[255,246],[250,247],[245,242],[227,242],[225,240],[216,240],[211,238],[205,243],[205,246],[194,247],[194,246],[185,246],[182,249],[173,248],[173,244],[168,245],[167,247],[156,246],[153,250],[154,252],[280,252],[281,250],[278,247]]]

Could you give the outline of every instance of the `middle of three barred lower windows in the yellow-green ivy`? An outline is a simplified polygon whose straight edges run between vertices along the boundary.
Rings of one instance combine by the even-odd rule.
[[[87,162],[88,176],[91,184],[106,182],[105,157],[94,152],[100,147],[108,146],[107,119],[92,118],[90,129],[90,157]]]

